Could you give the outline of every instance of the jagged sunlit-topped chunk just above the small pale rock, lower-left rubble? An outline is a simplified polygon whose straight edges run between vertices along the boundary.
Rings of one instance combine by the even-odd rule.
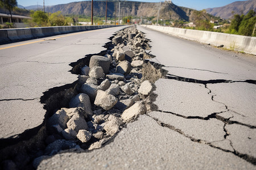
[[[67,122],[68,128],[71,128],[78,132],[81,129],[88,129],[88,125],[83,116],[80,114],[74,114],[72,118]]]

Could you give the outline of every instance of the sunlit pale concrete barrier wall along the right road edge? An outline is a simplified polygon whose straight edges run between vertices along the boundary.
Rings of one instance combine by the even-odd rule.
[[[224,45],[224,48],[237,50],[256,55],[256,37],[233,35],[228,33],[199,31],[156,25],[142,25],[156,31],[168,33],[188,40],[194,40],[215,46]]]

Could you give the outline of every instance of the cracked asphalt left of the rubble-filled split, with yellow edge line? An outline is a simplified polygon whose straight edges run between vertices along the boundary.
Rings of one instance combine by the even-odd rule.
[[[77,75],[69,72],[69,64],[86,54],[105,50],[109,37],[122,28],[0,45],[0,139],[17,139],[42,125],[46,114],[40,103],[43,92],[75,82]]]

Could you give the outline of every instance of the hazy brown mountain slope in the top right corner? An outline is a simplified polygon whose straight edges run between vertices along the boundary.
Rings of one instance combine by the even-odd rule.
[[[256,0],[236,1],[223,7],[207,8],[206,10],[214,16],[230,19],[234,14],[247,14],[250,10],[256,11]]]

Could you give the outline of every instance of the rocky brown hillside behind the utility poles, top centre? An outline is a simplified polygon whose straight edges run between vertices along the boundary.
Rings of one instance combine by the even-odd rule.
[[[94,15],[105,16],[105,1],[94,1]],[[121,2],[120,15],[129,15],[137,17],[151,17],[156,19],[158,15],[159,3],[150,2],[134,2],[125,1]],[[115,16],[115,8],[117,9],[118,16],[118,2],[108,2],[108,17]],[[189,21],[191,12],[194,11],[190,8],[179,7],[174,3],[162,3],[160,8],[160,19],[168,20],[185,20]],[[87,15],[90,16],[91,1],[72,2],[62,5],[56,5],[49,7],[49,12],[61,11],[63,14],[75,14],[75,15]]]

